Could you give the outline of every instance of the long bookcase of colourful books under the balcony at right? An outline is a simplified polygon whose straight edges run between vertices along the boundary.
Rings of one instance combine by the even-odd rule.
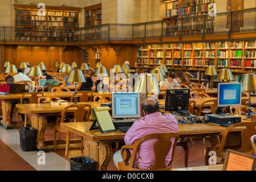
[[[169,70],[191,73],[194,82],[208,81],[204,74],[209,65],[214,65],[217,72],[231,69],[235,81],[240,81],[244,73],[256,71],[256,40],[138,46],[137,68],[153,69],[161,64]]]

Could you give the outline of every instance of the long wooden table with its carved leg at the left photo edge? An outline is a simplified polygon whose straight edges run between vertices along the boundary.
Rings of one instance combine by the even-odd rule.
[[[56,96],[63,100],[70,100],[72,94],[75,92],[42,92],[43,96]],[[97,96],[100,94],[111,94],[111,93],[96,93],[94,92],[92,96]],[[2,105],[2,121],[1,124],[5,129],[13,129],[11,124],[11,102],[18,102],[21,100],[22,94],[7,94],[0,95],[1,105]],[[26,98],[26,97],[25,97]]]

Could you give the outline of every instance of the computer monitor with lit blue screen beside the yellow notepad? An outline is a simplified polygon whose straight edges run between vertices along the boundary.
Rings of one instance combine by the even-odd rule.
[[[139,118],[139,93],[112,93],[112,118]]]

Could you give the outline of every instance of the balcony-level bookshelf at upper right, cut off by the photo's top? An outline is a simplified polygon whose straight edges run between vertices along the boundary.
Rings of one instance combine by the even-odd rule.
[[[166,17],[208,14],[214,0],[162,0],[166,4]]]

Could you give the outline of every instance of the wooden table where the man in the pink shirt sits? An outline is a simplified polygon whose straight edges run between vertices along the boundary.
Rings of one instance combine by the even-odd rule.
[[[100,133],[99,130],[90,131],[91,125],[91,122],[61,123],[64,129],[84,137],[84,150],[87,156],[96,160],[97,169],[106,170],[112,156],[111,143],[123,141],[125,133],[119,130],[108,133]],[[215,139],[212,145],[217,143],[216,135],[220,135],[225,129],[226,127],[211,123],[178,125],[180,138],[210,136],[211,139]]]

